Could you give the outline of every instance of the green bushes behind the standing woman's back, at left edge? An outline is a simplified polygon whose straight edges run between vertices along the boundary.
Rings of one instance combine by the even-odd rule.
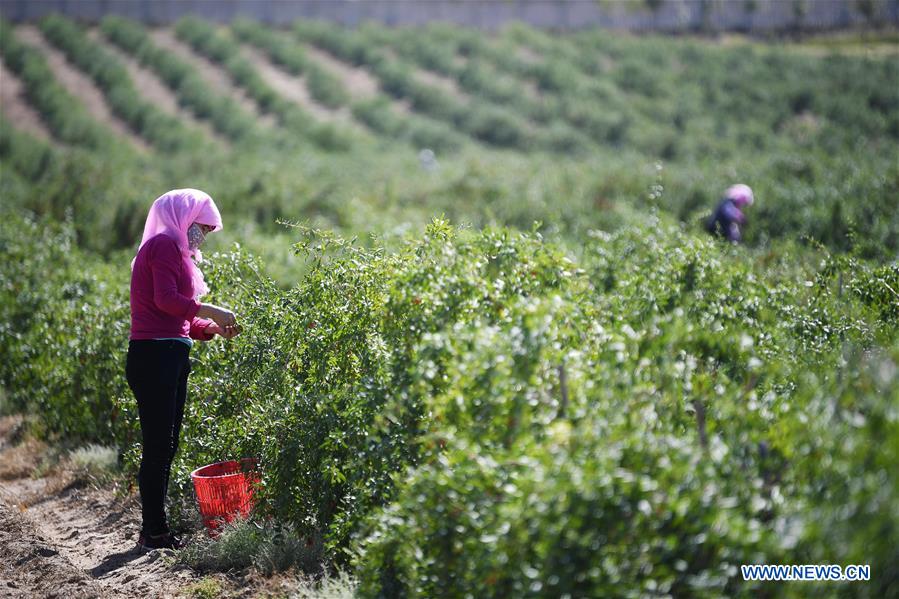
[[[125,286],[108,266],[85,261],[73,242],[69,226],[4,211],[0,323],[8,341],[0,380],[12,406],[42,415],[45,433],[121,446],[129,427],[119,417],[133,415],[115,407],[128,394]]]

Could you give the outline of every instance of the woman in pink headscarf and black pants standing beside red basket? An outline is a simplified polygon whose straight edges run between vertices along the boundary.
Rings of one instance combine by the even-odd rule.
[[[194,260],[202,261],[199,247],[206,235],[221,228],[211,197],[196,189],[175,189],[153,202],[131,263],[125,374],[140,416],[141,549],[180,545],[168,528],[165,498],[187,399],[192,340],[215,335],[231,339],[240,332],[233,312],[197,301],[208,288]]]

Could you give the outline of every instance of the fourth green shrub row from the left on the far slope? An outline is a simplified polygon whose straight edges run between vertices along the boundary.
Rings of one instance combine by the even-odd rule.
[[[317,122],[302,107],[285,99],[269,86],[256,68],[244,58],[233,40],[211,24],[185,17],[175,26],[178,36],[194,50],[220,64],[234,81],[247,91],[263,112],[274,114],[288,130],[308,137],[327,150],[346,150],[353,140],[337,125]]]

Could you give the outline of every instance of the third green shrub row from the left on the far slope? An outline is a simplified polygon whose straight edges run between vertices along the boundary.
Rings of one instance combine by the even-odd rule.
[[[212,123],[226,138],[239,141],[252,138],[254,120],[231,98],[211,93],[209,85],[191,65],[174,52],[158,47],[143,25],[128,19],[108,16],[100,23],[106,38],[152,69],[199,119]]]

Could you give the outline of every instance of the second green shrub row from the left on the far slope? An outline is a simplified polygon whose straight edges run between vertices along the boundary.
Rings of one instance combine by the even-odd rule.
[[[199,138],[149,102],[135,89],[127,69],[102,46],[92,42],[72,21],[58,15],[41,20],[47,40],[103,90],[113,113],[136,133],[162,150],[196,149]]]

